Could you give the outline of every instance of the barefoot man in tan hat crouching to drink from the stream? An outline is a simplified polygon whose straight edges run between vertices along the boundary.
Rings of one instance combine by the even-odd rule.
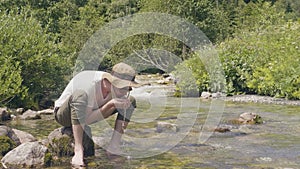
[[[120,152],[121,136],[135,108],[135,99],[128,97],[132,87],[143,84],[135,82],[135,70],[118,63],[112,73],[83,71],[69,82],[60,98],[55,102],[55,119],[65,127],[72,127],[74,156],[72,166],[84,167],[83,132],[85,125],[105,119],[118,112],[115,130],[107,152]]]

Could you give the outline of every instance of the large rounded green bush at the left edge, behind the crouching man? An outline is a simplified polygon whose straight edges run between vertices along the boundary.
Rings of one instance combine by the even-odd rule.
[[[0,13],[0,104],[38,109],[57,98],[70,70],[66,52],[56,36],[47,34],[24,7]]]

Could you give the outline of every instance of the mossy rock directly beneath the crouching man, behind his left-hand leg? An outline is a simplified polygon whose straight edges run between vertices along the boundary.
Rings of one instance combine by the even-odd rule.
[[[71,127],[55,129],[48,135],[49,151],[55,156],[71,156],[74,154],[74,137]],[[85,156],[95,155],[94,142],[91,128],[85,127],[83,135],[83,147]]]

